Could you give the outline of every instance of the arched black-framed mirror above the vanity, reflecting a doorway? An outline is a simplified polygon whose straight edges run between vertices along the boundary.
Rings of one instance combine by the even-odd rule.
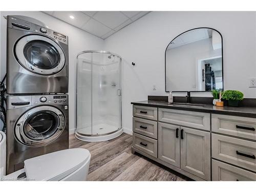
[[[223,90],[222,36],[210,28],[186,31],[165,51],[165,91]]]

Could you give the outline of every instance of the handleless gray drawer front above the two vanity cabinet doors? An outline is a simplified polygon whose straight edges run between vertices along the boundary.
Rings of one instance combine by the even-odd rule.
[[[210,114],[192,111],[158,109],[158,120],[201,130],[210,130]]]

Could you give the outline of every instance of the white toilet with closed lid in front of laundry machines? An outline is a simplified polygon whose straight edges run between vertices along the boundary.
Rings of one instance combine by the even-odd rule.
[[[24,161],[24,168],[5,176],[6,136],[0,131],[0,180],[86,181],[91,154],[84,148],[72,148]]]

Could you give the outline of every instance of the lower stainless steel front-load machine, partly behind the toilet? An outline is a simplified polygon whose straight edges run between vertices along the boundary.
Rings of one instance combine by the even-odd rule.
[[[68,95],[7,96],[10,174],[26,159],[69,148]]]

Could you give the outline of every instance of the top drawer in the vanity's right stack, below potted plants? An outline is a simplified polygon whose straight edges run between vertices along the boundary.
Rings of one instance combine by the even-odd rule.
[[[211,130],[256,140],[256,118],[211,114]]]

